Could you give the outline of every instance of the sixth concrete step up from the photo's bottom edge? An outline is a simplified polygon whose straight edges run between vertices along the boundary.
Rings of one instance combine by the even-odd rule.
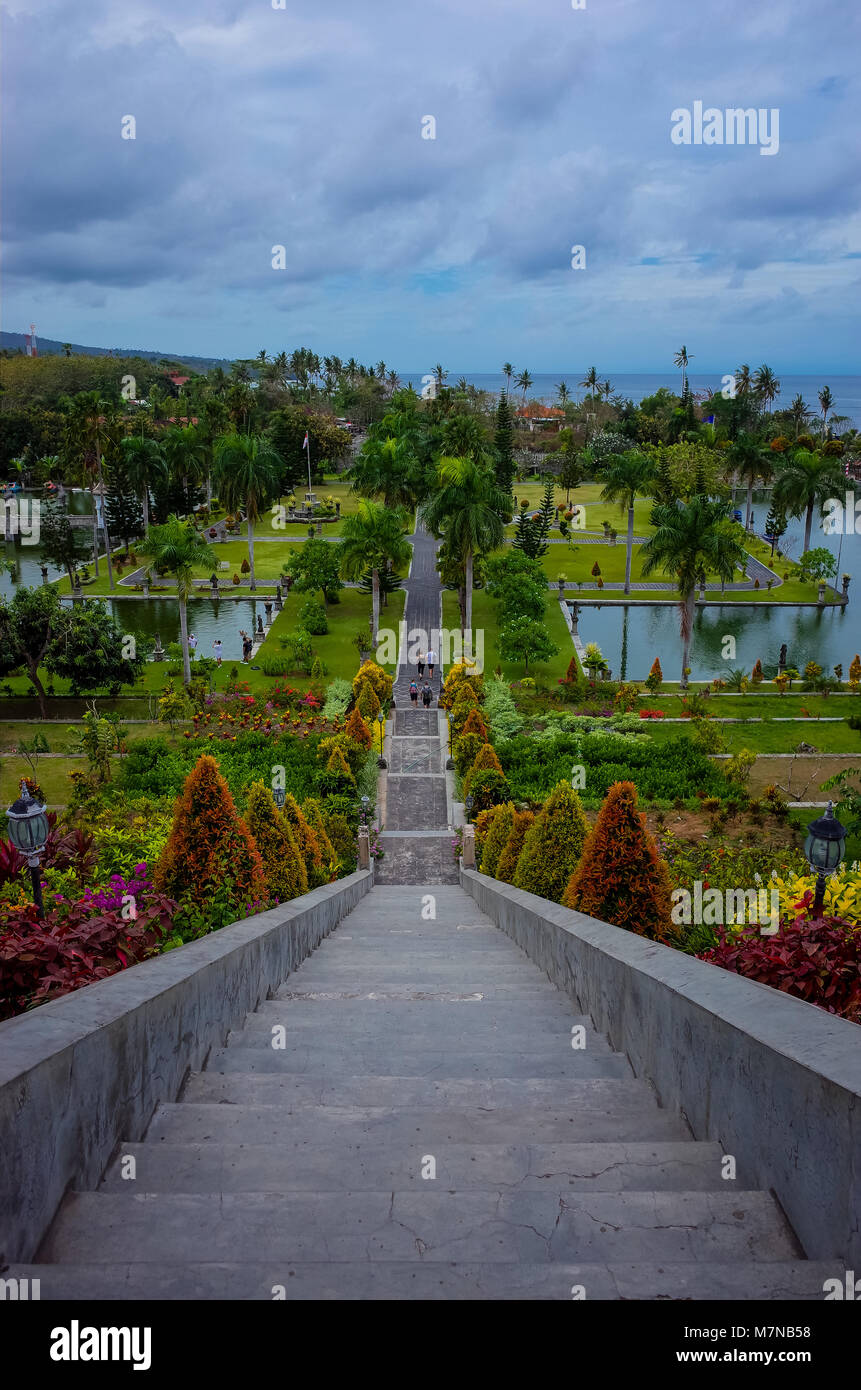
[[[328,1044],[310,1040],[298,1042],[288,1038],[284,1051],[271,1047],[218,1048],[210,1058],[210,1066],[220,1072],[292,1072],[316,1076],[338,1076],[344,1072],[345,1062],[345,1048],[338,1038],[332,1038]],[[477,1080],[494,1076],[586,1080],[631,1074],[630,1062],[620,1052],[573,1051],[565,1045],[565,1038],[561,1044],[554,1042],[540,1051],[530,1045],[526,1052],[523,1047],[487,1047],[481,1051],[476,1048],[474,1055],[463,1055],[456,1047],[434,1048],[428,1052],[427,1047],[402,1045],[396,1055],[392,1055],[391,1047],[356,1044],[349,1054],[352,1069],[373,1076],[385,1076],[391,1072],[392,1063],[396,1063],[402,1076],[427,1076],[433,1070],[438,1076]]]

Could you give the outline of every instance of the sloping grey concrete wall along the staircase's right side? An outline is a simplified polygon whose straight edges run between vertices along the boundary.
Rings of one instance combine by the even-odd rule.
[[[474,870],[460,883],[743,1187],[775,1191],[811,1259],[861,1269],[861,1027]]]

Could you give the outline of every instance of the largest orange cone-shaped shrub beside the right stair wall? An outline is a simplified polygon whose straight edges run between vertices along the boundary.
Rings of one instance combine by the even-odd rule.
[[[676,935],[666,865],[637,810],[633,783],[613,783],[562,899],[652,941]]]

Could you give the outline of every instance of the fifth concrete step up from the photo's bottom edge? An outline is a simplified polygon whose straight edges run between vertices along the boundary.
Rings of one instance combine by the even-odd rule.
[[[282,1111],[299,1105],[470,1112],[531,1108],[545,1112],[542,1118],[561,1116],[549,1137],[563,1140],[570,1138],[574,1113],[581,1123],[590,1115],[606,1113],[622,1118],[630,1115],[636,1119],[638,1113],[650,1115],[657,1105],[655,1093],[648,1083],[633,1077],[572,1081],[510,1076],[488,1080],[433,1076],[278,1076],[271,1072],[246,1076],[211,1068],[206,1072],[192,1072],[181,1101],[161,1106],[156,1111],[156,1116],[161,1109],[172,1113],[177,1108],[181,1109],[184,1102],[267,1106]],[[150,1127],[147,1138],[153,1133],[156,1131]],[[540,1138],[541,1134],[529,1137]]]

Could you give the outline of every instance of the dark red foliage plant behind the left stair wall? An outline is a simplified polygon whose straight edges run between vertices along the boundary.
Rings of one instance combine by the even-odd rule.
[[[51,908],[43,922],[32,903],[14,910],[0,934],[0,1019],[156,955],[175,908],[170,898],[150,892],[128,919],[115,909],[93,912],[85,898]]]

